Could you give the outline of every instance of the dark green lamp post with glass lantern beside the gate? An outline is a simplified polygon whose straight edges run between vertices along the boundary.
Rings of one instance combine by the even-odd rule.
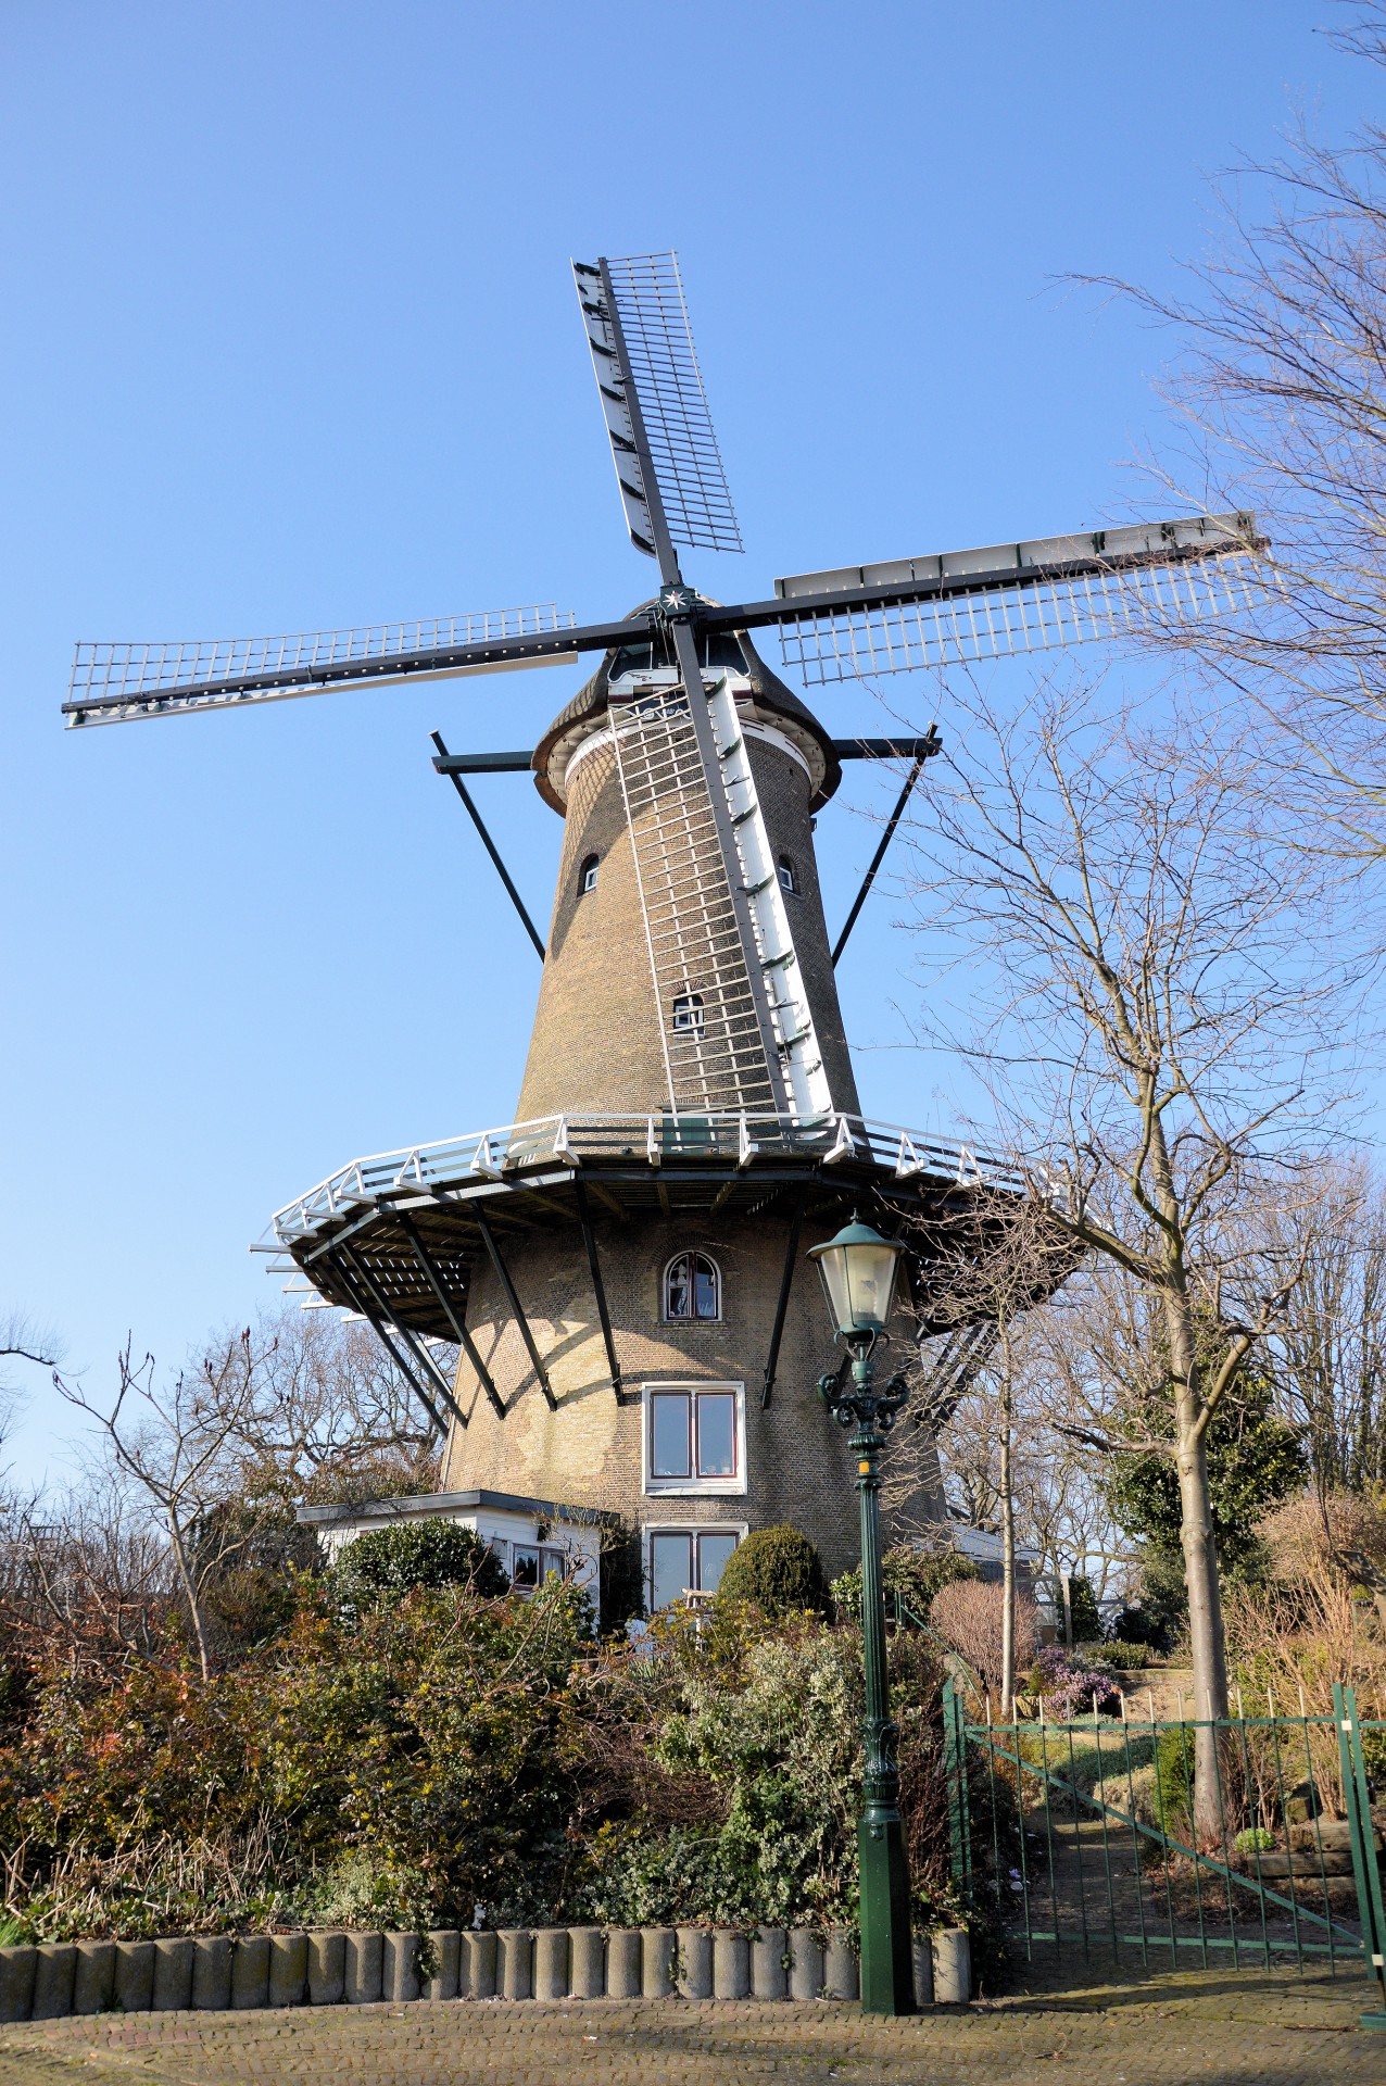
[[[863,1813],[857,1825],[861,1873],[863,2013],[913,2013],[915,1978],[909,1932],[909,1859],[900,1821],[898,1727],[886,1688],[886,1587],[882,1583],[880,1452],[909,1396],[905,1377],[875,1387],[871,1350],[886,1331],[905,1247],[852,1218],[827,1245],[815,1245],[823,1291],[850,1375],[819,1377],[819,1398],[840,1427],[852,1427],[861,1502],[861,1635],[867,1669]]]

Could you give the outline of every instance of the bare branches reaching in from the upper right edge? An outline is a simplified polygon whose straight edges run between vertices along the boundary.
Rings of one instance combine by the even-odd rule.
[[[1336,42],[1386,67],[1386,4]],[[1373,81],[1380,90],[1380,77]],[[1171,453],[1196,509],[1255,509],[1269,584],[1234,613],[1157,632],[1271,724],[1263,780],[1294,789],[1307,845],[1386,853],[1386,125],[1346,146],[1292,127],[1280,159],[1223,184],[1213,257],[1184,298],[1107,288],[1169,325]]]

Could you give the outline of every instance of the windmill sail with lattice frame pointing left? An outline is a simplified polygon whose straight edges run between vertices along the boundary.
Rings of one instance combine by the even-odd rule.
[[[629,636],[629,620],[577,624],[569,611],[546,605],[290,638],[79,645],[63,713],[69,728],[121,724],[327,688],[571,665],[579,653],[602,653]]]

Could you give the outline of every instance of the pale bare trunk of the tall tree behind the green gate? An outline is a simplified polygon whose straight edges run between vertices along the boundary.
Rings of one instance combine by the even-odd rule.
[[[1209,1500],[1207,1437],[1198,1433],[1198,1362],[1194,1320],[1182,1289],[1165,1291],[1165,1325],[1173,1368],[1175,1456],[1180,1471],[1180,1544],[1188,1587],[1188,1642],[1194,1669],[1194,1840],[1221,1840],[1221,1746],[1215,1729],[1228,1717],[1228,1646],[1221,1621],[1217,1544]]]

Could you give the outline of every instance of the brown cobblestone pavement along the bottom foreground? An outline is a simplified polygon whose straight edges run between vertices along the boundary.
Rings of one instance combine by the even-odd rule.
[[[1182,1973],[1032,1990],[915,2021],[817,2005],[415,2003],[98,2015],[0,2028],[0,2086],[1246,2086],[1386,2082],[1371,1988]]]

